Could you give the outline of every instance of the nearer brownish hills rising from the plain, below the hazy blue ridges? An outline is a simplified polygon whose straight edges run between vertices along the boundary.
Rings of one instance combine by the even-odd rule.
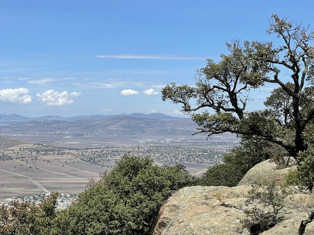
[[[1,133],[35,134],[68,133],[71,135],[103,136],[191,136],[196,131],[191,119],[161,121],[152,118],[111,116],[104,119],[81,119],[76,121],[36,120],[27,123],[1,126]]]

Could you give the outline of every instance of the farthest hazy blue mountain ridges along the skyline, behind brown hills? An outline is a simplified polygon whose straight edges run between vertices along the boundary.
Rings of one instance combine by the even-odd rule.
[[[43,117],[35,117],[35,118],[27,118],[23,116],[19,116],[17,114],[0,114],[0,126],[3,125],[14,125],[14,124],[20,124],[20,123],[27,123],[27,122],[33,122],[33,121],[47,121],[47,120],[60,120],[60,121],[66,121],[66,122],[72,122],[82,119],[94,119],[94,120],[101,120],[105,118],[110,118],[115,115],[81,115],[81,116],[75,116],[75,117],[67,117],[62,118],[60,116],[43,116]],[[123,116],[123,117],[132,117],[132,118],[150,118],[160,121],[174,121],[174,120],[180,120],[180,119],[186,119],[186,118],[178,118],[178,117],[171,117],[163,113],[150,113],[150,114],[144,114],[144,113],[131,113],[131,114],[119,114],[116,116]]]

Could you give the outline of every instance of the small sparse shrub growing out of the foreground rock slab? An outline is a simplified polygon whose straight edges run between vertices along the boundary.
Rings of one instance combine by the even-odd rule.
[[[249,219],[242,222],[255,224],[257,231],[254,234],[273,227],[280,221],[279,211],[284,207],[284,201],[290,194],[284,186],[275,186],[274,181],[267,185],[254,182],[252,189],[248,191],[247,209],[244,210]]]

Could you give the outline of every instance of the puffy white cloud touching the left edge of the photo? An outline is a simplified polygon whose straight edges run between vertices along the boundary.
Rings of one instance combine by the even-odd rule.
[[[0,90],[0,101],[8,103],[27,104],[32,101],[32,97],[30,95],[20,95],[27,94],[28,92],[30,92],[30,90],[26,88],[3,89]]]

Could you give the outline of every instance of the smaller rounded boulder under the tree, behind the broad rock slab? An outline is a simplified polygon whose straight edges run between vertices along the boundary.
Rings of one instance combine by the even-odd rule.
[[[294,163],[295,161],[291,160],[289,167],[278,169],[275,163],[265,160],[246,172],[238,185],[250,185],[254,181],[269,183],[272,180],[275,180],[276,185],[279,185],[283,182],[284,175],[288,173],[289,170],[296,168],[296,165],[293,165]]]

